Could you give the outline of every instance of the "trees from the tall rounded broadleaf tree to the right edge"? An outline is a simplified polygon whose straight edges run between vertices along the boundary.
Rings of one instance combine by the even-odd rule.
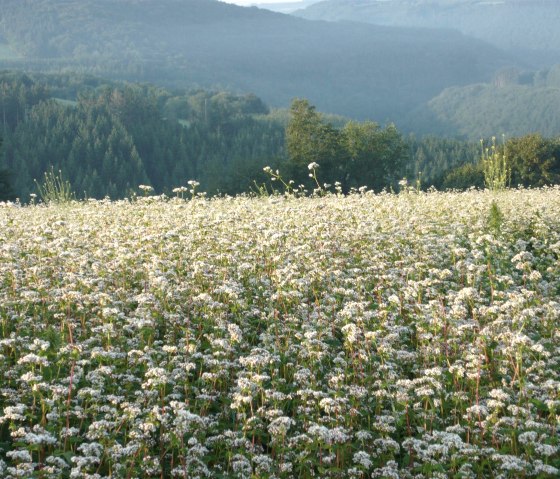
[[[490,140],[491,141],[491,140]],[[410,176],[420,187],[484,188],[484,159],[488,149],[503,155],[509,186],[539,187],[560,183],[560,138],[539,133],[510,138],[492,146],[467,141],[413,136],[404,138],[395,125],[349,121],[337,129],[307,100],[294,100],[286,129],[288,166],[292,177],[309,163],[318,163],[328,183],[346,190],[368,186],[379,191],[396,187]]]

